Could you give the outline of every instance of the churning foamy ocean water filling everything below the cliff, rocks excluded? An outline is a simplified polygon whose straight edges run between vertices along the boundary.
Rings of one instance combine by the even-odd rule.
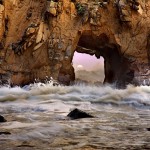
[[[95,118],[70,120],[81,109]],[[0,150],[150,149],[150,87],[35,83],[0,88]]]

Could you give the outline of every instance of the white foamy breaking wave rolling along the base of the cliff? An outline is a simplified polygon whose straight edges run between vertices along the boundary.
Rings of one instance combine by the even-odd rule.
[[[57,99],[64,102],[79,101],[99,104],[145,106],[150,109],[150,87],[129,85],[127,89],[115,89],[112,85],[73,85],[53,86],[52,83],[36,83],[26,88],[1,87],[0,102],[36,100],[48,101]]]

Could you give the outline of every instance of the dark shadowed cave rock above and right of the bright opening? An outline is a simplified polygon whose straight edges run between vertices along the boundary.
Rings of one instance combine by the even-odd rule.
[[[84,32],[78,42],[77,52],[95,55],[98,59],[104,58],[104,83],[115,83],[124,87],[131,83],[134,71],[130,70],[130,63],[120,52],[120,47],[111,43],[106,34],[96,37],[89,32]]]

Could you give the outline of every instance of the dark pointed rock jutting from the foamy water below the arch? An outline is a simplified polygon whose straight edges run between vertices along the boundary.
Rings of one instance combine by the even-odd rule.
[[[81,118],[94,118],[92,115],[87,114],[86,112],[83,112],[82,110],[79,110],[75,108],[72,110],[67,117],[70,117],[71,119],[81,119]]]

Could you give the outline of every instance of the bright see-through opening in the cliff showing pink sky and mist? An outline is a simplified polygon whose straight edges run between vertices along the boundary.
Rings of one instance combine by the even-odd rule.
[[[100,85],[104,81],[104,59],[97,59],[85,53],[75,52],[73,56],[75,83]]]

